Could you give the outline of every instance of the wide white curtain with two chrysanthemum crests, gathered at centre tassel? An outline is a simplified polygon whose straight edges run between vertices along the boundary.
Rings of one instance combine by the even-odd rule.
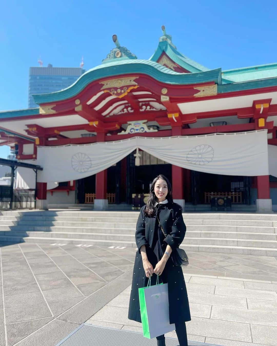
[[[201,136],[132,137],[87,145],[38,147],[39,182],[81,179],[137,147],[176,166],[225,175],[268,175],[267,130]]]

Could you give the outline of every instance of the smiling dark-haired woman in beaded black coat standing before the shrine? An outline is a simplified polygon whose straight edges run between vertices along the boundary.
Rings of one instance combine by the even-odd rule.
[[[161,281],[168,284],[169,323],[175,324],[180,346],[187,346],[185,321],[190,321],[191,315],[182,268],[173,264],[170,255],[182,243],[185,233],[182,207],[173,202],[171,184],[160,174],[151,184],[149,200],[140,209],[137,221],[135,237],[138,251],[128,318],[141,322],[138,288],[146,287],[150,276],[153,276],[153,282],[156,282],[157,275],[160,276]],[[164,335],[156,338],[158,346],[165,345]]]

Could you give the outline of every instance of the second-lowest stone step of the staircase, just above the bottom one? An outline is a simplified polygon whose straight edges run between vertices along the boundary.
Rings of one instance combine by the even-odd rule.
[[[92,239],[92,240],[118,240],[121,242],[135,242],[134,234],[110,234],[110,233],[83,233],[83,232],[35,232],[35,231],[6,231],[4,236],[20,236],[20,237],[52,237],[52,238],[78,238],[78,239]],[[239,238],[211,238],[211,237],[191,237],[185,236],[182,244],[194,245],[228,245],[228,246],[250,246],[250,247],[267,247],[276,248],[277,241],[275,240],[262,240],[262,239],[239,239]]]

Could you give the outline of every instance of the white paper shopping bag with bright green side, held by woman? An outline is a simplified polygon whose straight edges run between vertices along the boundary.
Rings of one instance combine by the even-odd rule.
[[[148,339],[175,330],[175,324],[169,324],[168,284],[159,284],[158,278],[156,285],[151,286],[150,277],[147,286],[138,289],[142,331]]]

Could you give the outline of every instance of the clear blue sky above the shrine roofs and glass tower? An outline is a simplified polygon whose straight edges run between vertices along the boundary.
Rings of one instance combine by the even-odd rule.
[[[138,58],[155,51],[161,25],[184,55],[211,69],[277,62],[276,1],[2,0],[0,110],[27,108],[28,69],[99,65],[112,35]],[[0,157],[8,149],[0,147]]]

